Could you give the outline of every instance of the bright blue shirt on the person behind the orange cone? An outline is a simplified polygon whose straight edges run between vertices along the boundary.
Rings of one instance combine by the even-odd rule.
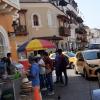
[[[39,65],[37,63],[32,64],[30,73],[32,75],[31,81],[32,86],[39,86],[40,80],[39,80]]]

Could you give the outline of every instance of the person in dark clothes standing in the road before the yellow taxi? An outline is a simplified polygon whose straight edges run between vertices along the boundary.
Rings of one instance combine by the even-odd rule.
[[[66,71],[66,67],[69,64],[69,60],[67,57],[65,57],[64,54],[62,54],[62,49],[58,49],[57,50],[58,55],[56,57],[56,70],[57,70],[57,82],[61,82],[62,84],[64,84],[63,81],[63,77],[62,77],[62,73],[64,74],[65,77],[65,85],[67,85],[68,83],[68,76],[67,76],[67,71]]]

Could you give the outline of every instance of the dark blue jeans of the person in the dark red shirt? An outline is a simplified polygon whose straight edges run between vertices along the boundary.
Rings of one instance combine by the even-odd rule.
[[[46,83],[48,90],[52,92],[54,90],[52,72],[46,74]]]

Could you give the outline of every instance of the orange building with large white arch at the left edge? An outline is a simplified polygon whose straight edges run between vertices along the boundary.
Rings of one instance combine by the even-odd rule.
[[[9,37],[9,33],[14,32],[12,23],[18,9],[19,0],[0,0],[0,58],[6,56],[8,52],[12,52],[13,59],[17,58],[16,49],[12,47],[14,38]]]

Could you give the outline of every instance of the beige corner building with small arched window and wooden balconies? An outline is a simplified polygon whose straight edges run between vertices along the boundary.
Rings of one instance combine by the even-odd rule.
[[[79,47],[75,30],[83,20],[74,0],[20,0],[20,5],[15,22],[17,46],[41,38],[55,42],[63,50]]]

